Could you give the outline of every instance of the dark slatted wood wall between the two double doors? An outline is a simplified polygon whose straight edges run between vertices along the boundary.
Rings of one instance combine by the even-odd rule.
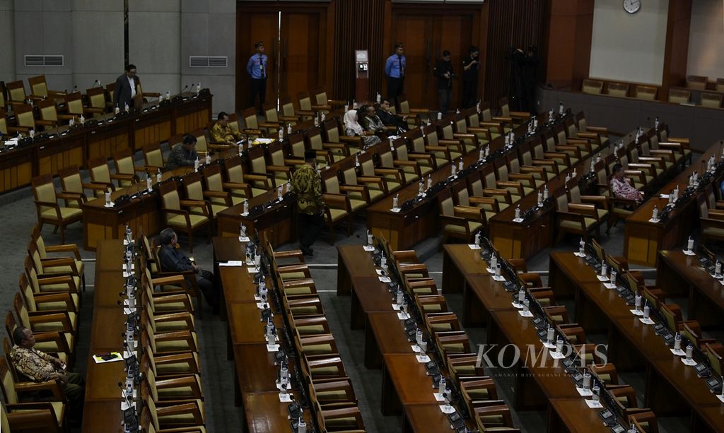
[[[386,0],[337,1],[334,12],[334,62],[332,86],[334,98],[351,100],[355,94],[355,50],[369,54],[369,94],[382,89],[384,67],[384,3]]]

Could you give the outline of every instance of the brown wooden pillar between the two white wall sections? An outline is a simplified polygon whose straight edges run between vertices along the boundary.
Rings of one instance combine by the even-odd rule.
[[[669,1],[660,100],[668,100],[669,87],[686,85],[690,27],[691,0]]]

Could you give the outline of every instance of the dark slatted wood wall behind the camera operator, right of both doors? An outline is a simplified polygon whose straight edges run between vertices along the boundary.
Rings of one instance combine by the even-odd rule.
[[[511,47],[523,50],[531,45],[538,47],[538,77],[539,81],[543,79],[549,1],[489,0],[485,5],[489,7],[489,20],[484,100],[496,107],[500,98],[508,96],[510,88]]]

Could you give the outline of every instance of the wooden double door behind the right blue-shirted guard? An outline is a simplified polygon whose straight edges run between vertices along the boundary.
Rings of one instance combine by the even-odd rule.
[[[405,69],[405,95],[415,108],[437,108],[437,77],[433,69],[442,51],[450,51],[452,68],[458,75],[452,82],[450,108],[460,106],[463,77],[462,61],[471,45],[477,45],[478,31],[473,25],[478,14],[465,10],[444,9],[411,11],[393,9],[392,35],[395,41],[405,44],[407,69]],[[392,53],[392,51],[390,51]]]

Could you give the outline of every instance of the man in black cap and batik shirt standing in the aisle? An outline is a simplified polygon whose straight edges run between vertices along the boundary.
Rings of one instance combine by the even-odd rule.
[[[304,165],[294,172],[292,189],[297,194],[299,249],[311,256],[312,245],[324,228],[324,197],[315,150],[304,151]]]

